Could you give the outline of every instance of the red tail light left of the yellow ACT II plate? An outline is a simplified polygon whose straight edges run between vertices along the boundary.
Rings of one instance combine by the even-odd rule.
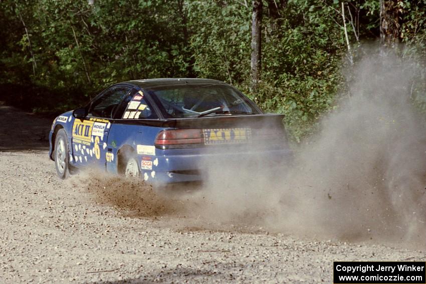
[[[161,149],[193,148],[203,144],[200,129],[162,130],[155,138],[155,146]]]

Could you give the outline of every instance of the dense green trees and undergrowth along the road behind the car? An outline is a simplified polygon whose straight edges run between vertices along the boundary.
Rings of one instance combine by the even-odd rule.
[[[407,90],[426,110],[425,13],[426,0],[4,0],[0,99],[56,114],[120,81],[218,79],[285,114],[299,142],[337,107],[370,42],[422,67]]]

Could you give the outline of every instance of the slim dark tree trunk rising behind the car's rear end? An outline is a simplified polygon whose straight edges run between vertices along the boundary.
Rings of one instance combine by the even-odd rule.
[[[253,0],[252,15],[252,86],[251,91],[257,93],[262,62],[262,0]]]

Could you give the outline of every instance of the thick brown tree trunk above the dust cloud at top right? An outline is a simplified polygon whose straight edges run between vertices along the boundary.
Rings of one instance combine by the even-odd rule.
[[[380,0],[380,43],[394,47],[401,35],[398,4],[402,0]]]

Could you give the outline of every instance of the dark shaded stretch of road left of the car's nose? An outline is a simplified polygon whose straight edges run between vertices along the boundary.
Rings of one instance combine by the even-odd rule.
[[[49,150],[52,120],[0,102],[0,152]]]

